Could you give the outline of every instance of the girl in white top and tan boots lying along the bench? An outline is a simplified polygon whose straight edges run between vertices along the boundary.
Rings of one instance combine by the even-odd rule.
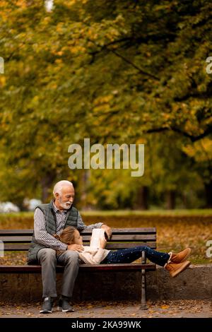
[[[83,246],[83,237],[81,237],[75,227],[66,227],[60,235],[54,236],[66,244],[79,244]],[[164,266],[164,268],[170,272],[172,277],[175,277],[190,265],[190,261],[187,261],[187,258],[191,252],[190,248],[186,248],[178,254],[173,254],[172,252],[166,254],[153,250],[147,246],[138,246],[134,248],[111,251],[105,249],[106,244],[107,240],[105,237],[102,237],[100,238],[100,248],[92,249],[90,247],[83,247],[83,251],[78,253],[81,261],[90,265],[100,263],[132,263],[141,257],[142,251],[145,251],[146,258],[153,263]],[[60,252],[57,254],[59,253]]]

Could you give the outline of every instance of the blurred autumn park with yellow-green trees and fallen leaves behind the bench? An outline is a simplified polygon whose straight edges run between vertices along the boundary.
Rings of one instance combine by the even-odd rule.
[[[158,249],[189,246],[192,263],[210,263],[211,7],[2,0],[0,201],[25,211],[26,198],[49,202],[54,183],[69,179],[85,223],[155,226]],[[145,144],[143,177],[70,170],[68,148],[84,138]],[[32,228],[33,213],[1,214],[0,225]]]

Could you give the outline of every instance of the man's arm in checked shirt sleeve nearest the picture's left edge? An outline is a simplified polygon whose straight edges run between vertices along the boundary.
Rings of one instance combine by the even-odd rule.
[[[44,245],[47,248],[54,250],[66,250],[67,244],[55,239],[51,234],[46,230],[45,215],[42,213],[40,208],[35,209],[34,214],[34,230],[35,230],[35,239],[37,243]]]

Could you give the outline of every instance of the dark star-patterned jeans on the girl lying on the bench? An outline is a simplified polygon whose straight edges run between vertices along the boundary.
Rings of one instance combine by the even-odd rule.
[[[165,263],[170,259],[170,255],[164,252],[156,251],[147,246],[138,246],[134,248],[119,249],[110,251],[102,264],[118,264],[118,263],[132,263],[141,257],[142,251],[146,252],[146,258],[151,262],[160,266],[165,266]]]

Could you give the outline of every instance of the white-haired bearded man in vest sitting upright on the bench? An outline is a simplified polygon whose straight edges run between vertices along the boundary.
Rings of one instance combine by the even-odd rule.
[[[43,298],[40,313],[52,312],[53,298],[57,297],[56,265],[64,266],[59,309],[62,312],[73,312],[71,300],[73,286],[78,274],[79,256],[83,247],[78,244],[67,245],[53,235],[59,235],[67,226],[77,230],[104,228],[110,238],[111,228],[102,223],[86,226],[80,213],[73,207],[74,188],[69,181],[57,182],[53,190],[54,199],[48,204],[37,206],[34,215],[34,234],[28,251],[28,264],[40,263],[42,266]],[[62,251],[57,254],[57,251]]]

